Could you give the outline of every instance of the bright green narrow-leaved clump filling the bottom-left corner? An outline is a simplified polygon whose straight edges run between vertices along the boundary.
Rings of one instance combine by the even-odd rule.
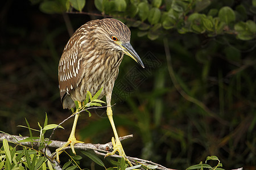
[[[27,120],[26,120],[27,122]],[[30,128],[30,125],[27,122],[27,126],[20,126],[23,128],[28,128],[30,131],[31,137],[23,139],[19,142],[36,142],[39,143],[38,149],[33,147],[22,146],[16,143],[13,143],[15,147],[9,146],[9,143],[6,139],[3,139],[3,146],[1,147],[1,163],[0,168],[4,169],[53,169],[51,162],[46,158],[43,148],[47,145],[47,143],[51,142],[49,139],[45,138],[44,134],[47,130],[51,130],[56,128],[55,124],[47,124],[48,118],[46,114],[46,119],[44,120],[44,128],[40,126],[38,122],[38,126],[40,130]],[[59,126],[59,128],[62,128]],[[31,130],[40,132],[39,137],[33,137]],[[18,146],[22,146],[22,150],[19,150]]]

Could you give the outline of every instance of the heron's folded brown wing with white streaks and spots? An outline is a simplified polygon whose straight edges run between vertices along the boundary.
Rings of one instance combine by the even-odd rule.
[[[79,48],[77,41],[72,37],[61,55],[58,67],[61,101],[63,101],[67,95],[70,95],[71,91],[81,82],[83,71]]]

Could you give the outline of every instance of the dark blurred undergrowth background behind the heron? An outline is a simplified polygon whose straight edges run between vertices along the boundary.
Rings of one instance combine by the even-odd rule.
[[[99,13],[93,3],[86,9]],[[29,135],[28,130],[59,124],[70,116],[63,110],[57,82],[57,65],[69,39],[64,17],[73,29],[98,16],[44,14],[30,1],[3,1],[0,7],[0,130]],[[175,30],[155,41],[138,37],[131,28],[131,44],[146,69],[125,57],[115,82],[114,121],[126,155],[152,160],[169,168],[184,169],[216,155],[225,169],[255,169],[255,40],[233,35],[209,38]],[[168,40],[177,87],[170,77],[163,39]],[[180,90],[208,109],[188,101]],[[58,129],[54,139],[67,141],[72,120]],[[51,133],[49,131],[48,135]],[[34,135],[39,135],[34,132]],[[113,132],[105,109],[82,113],[77,138],[109,142]],[[65,154],[61,159],[66,160]],[[102,158],[103,159],[103,158]],[[85,166],[90,165],[84,163]],[[64,162],[64,161],[63,161]]]

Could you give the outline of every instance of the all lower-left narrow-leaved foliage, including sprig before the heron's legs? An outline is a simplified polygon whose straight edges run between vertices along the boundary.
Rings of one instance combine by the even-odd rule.
[[[87,111],[89,113],[89,117],[91,116],[90,112],[88,111],[89,107],[97,106],[102,107],[100,103],[105,103],[102,100],[98,99],[98,96],[100,96],[101,91],[103,87],[92,97],[92,94],[90,92],[87,92],[86,100],[82,103],[82,107],[78,107],[77,101],[76,103],[76,112],[73,111],[73,115],[79,114],[82,111]],[[69,117],[70,118],[70,117]],[[26,118],[25,118],[26,120]],[[64,121],[63,121],[64,122]],[[63,124],[61,122],[61,124]],[[3,146],[1,147],[0,154],[1,154],[1,163],[0,163],[0,169],[53,169],[54,164],[51,163],[51,159],[47,159],[47,156],[45,155],[44,150],[46,149],[47,145],[51,143],[51,137],[55,129],[57,128],[63,128],[61,124],[49,124],[48,125],[48,117],[46,114],[46,118],[44,120],[44,126],[42,127],[40,123],[38,122],[38,126],[40,130],[32,129],[30,128],[30,124],[26,120],[27,126],[19,126],[22,128],[27,128],[30,131],[30,137],[20,140],[19,142],[31,142],[31,143],[39,143],[38,148],[33,147],[27,147],[22,146],[20,144],[13,143],[15,147],[9,146],[9,143],[6,139],[3,139]],[[51,130],[52,134],[49,138],[46,138],[45,134],[47,130]],[[63,128],[64,129],[64,128]],[[32,130],[39,132],[39,137],[33,137],[32,136]],[[18,146],[22,146],[23,150],[17,150]],[[95,163],[101,165],[104,167],[104,163],[94,154],[82,151],[82,154],[88,156],[90,159],[92,159]],[[63,165],[63,169],[76,169],[79,167],[79,160],[82,159],[81,156],[75,155],[71,156],[69,155],[71,160],[69,160],[67,163]],[[80,168],[81,169],[81,168]]]

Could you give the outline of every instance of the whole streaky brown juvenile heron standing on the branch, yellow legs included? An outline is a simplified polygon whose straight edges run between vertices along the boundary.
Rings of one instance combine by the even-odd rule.
[[[86,98],[86,91],[95,95],[103,87],[99,98],[106,96],[106,113],[114,132],[114,150],[106,156],[115,152],[123,158],[126,156],[115,129],[110,107],[112,90],[123,54],[144,67],[141,58],[130,44],[130,35],[130,29],[116,19],[106,18],[87,22],[76,30],[65,45],[58,67],[60,98],[64,109],[75,107],[74,101],[78,101],[81,107],[81,102]],[[56,150],[57,161],[63,148],[70,145],[75,154],[75,143],[81,143],[75,138],[78,117],[79,114],[76,114],[68,142]]]

